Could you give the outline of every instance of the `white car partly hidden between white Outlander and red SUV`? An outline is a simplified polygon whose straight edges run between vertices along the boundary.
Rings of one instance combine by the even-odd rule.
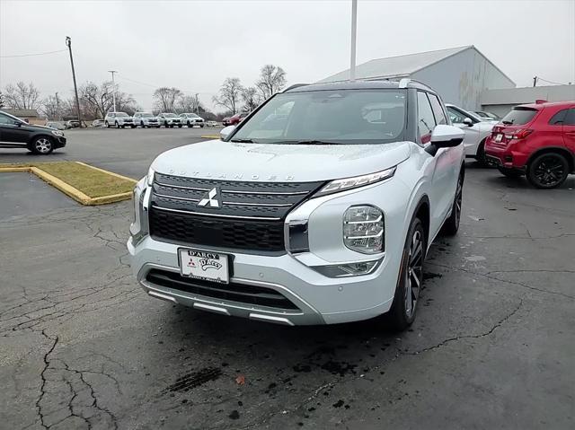
[[[446,108],[452,124],[461,128],[465,133],[465,157],[474,158],[480,164],[485,165],[485,140],[491,136],[491,130],[497,121],[482,120],[474,113],[453,104],[446,103]]]

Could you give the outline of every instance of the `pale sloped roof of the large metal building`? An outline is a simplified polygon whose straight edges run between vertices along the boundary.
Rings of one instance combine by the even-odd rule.
[[[431,66],[447,57],[451,57],[465,49],[474,48],[473,45],[438,49],[435,51],[418,52],[405,56],[377,58],[356,66],[356,79],[387,79],[392,77],[409,76],[422,68]],[[326,77],[319,83],[347,81],[349,69],[338,74]]]

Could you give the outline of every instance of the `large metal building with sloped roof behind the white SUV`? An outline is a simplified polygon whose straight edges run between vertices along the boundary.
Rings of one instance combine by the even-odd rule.
[[[435,89],[443,101],[465,110],[479,110],[482,92],[514,88],[515,83],[477,48],[472,46],[378,58],[356,67],[356,79],[382,80],[411,77]],[[349,79],[349,69],[320,83]]]

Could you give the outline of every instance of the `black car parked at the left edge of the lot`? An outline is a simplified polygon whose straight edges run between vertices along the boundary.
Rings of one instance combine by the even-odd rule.
[[[0,148],[27,148],[34,154],[50,154],[66,146],[60,130],[33,126],[0,110]]]

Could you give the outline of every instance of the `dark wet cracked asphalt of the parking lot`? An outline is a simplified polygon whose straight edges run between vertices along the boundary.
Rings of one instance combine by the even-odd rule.
[[[75,130],[46,160],[139,178],[156,154],[213,131]],[[0,150],[0,162],[30,157]],[[36,195],[30,180],[2,176],[1,196]],[[573,176],[542,191],[469,163],[461,229],[432,246],[402,334],[151,299],[128,267],[131,202],[54,198],[0,209],[2,428],[574,426]]]

